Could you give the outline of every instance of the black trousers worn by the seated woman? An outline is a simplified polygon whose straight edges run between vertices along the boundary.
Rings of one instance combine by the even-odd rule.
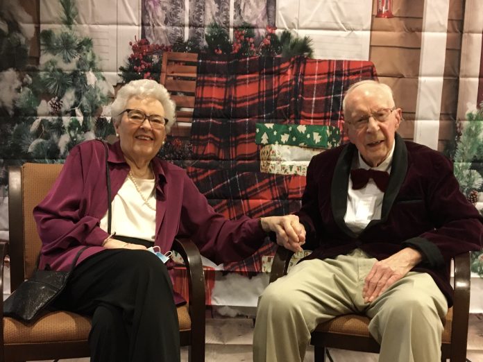
[[[179,362],[172,288],[152,252],[104,250],[76,266],[53,304],[92,316],[91,361]]]

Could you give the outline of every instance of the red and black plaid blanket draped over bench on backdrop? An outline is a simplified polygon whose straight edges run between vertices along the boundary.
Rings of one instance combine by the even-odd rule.
[[[196,161],[187,170],[190,177],[228,218],[295,212],[305,177],[260,172],[255,124],[342,128],[344,92],[359,80],[375,78],[373,64],[365,61],[201,54],[191,135]],[[261,263],[249,264],[237,268],[261,270]]]

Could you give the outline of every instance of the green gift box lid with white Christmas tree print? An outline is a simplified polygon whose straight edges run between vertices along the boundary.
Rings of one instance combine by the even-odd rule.
[[[334,148],[339,146],[341,131],[332,126],[257,123],[255,143],[300,147]]]

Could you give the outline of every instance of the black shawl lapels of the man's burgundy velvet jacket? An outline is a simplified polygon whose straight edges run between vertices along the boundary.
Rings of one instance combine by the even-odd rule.
[[[396,196],[398,196],[402,182],[405,180],[407,173],[407,148],[404,141],[397,133],[395,141],[396,146],[394,147],[391,164],[391,175],[389,176],[389,184],[382,200],[381,219],[373,220],[368,223],[364,231],[378,223],[384,223],[387,221],[389,211],[391,210],[394,200],[396,200]],[[351,238],[357,238],[357,234],[347,227],[346,222],[344,221],[344,216],[347,211],[347,189],[349,185],[350,167],[352,166],[355,152],[357,152],[357,148],[354,144],[348,144],[348,146],[342,150],[335,166],[334,176],[330,187],[330,200],[332,203],[334,221],[337,226]]]

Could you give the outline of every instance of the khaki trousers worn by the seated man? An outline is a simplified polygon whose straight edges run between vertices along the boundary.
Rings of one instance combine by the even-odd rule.
[[[375,261],[355,249],[335,259],[303,261],[271,283],[258,300],[253,361],[303,361],[316,325],[364,313],[381,345],[379,361],[440,362],[442,319],[448,311],[443,293],[430,275],[410,272],[364,303],[364,278]]]

